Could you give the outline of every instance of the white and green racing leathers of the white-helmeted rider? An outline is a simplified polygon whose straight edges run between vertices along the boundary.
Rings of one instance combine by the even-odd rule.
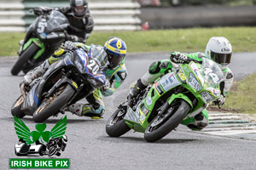
[[[177,65],[175,65],[175,63],[183,64],[186,62],[186,59],[196,59],[198,61],[202,61],[203,57],[207,58],[207,55],[203,53],[182,54],[179,52],[173,52],[171,54],[171,60],[164,59],[160,61],[154,61],[154,63],[149,66],[149,70],[143,75],[143,77],[138,79],[137,82],[133,82],[131,84],[131,90],[129,94],[131,96],[130,99],[137,96],[137,94],[139,94],[140,91],[146,88],[148,84],[154,82],[157,78],[165,75],[168,71],[172,71],[172,68],[176,68]],[[230,68],[227,67],[225,70],[223,70],[223,73],[224,84],[220,84],[220,86],[224,87],[220,87],[223,90],[221,97],[217,100],[218,105],[224,104],[224,96],[230,91],[230,87],[234,79],[233,73]],[[201,111],[201,113],[195,115],[194,117],[184,119],[182,124],[186,125],[192,130],[201,130],[202,128],[207,127],[207,125],[209,124],[207,110]]]

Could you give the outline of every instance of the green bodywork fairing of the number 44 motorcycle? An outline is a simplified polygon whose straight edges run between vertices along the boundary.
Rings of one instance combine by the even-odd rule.
[[[140,102],[140,104],[137,105],[137,110],[132,111],[131,108],[129,108],[129,110],[127,111],[125,118],[124,118],[126,124],[129,127],[131,127],[132,129],[134,129],[136,132],[143,133],[144,130],[148,127],[148,118],[152,114],[152,111],[154,111],[155,104],[157,102],[159,102],[159,99],[162,96],[164,96],[166,93],[168,93],[170,90],[173,90],[177,86],[183,86],[183,88],[185,88],[187,90],[185,90],[183,93],[172,94],[167,99],[167,101],[169,104],[171,104],[176,99],[183,99],[183,100],[187,101],[189,103],[189,105],[191,106],[191,110],[189,111],[189,114],[193,113],[194,111],[197,111],[200,108],[204,108],[205,107],[204,105],[212,102],[215,99],[218,99],[217,96],[215,97],[212,94],[209,94],[212,96],[212,99],[209,101],[204,101],[204,99],[201,96],[201,93],[207,92],[206,88],[209,88],[209,87],[211,87],[211,88],[213,87],[215,89],[218,89],[218,91],[219,91],[219,86],[217,87],[215,83],[213,84],[213,82],[211,85],[211,84],[209,84],[210,82],[205,81],[204,86],[202,86],[200,83],[201,90],[199,92],[197,92],[195,90],[195,88],[193,88],[189,85],[189,74],[193,74],[196,81],[200,82],[199,77],[196,76],[195,71],[192,69],[192,66],[190,66],[192,64],[194,66],[196,65],[197,68],[199,68],[199,70],[201,70],[201,67],[202,67],[201,64],[196,64],[194,62],[190,62],[189,64],[181,65],[180,69],[178,70],[178,71],[181,70],[180,72],[178,72],[175,69],[172,69],[173,72],[167,73],[165,76],[157,79],[154,82],[154,84],[152,85],[152,87],[149,89],[146,97],[144,97],[144,99]],[[214,66],[217,67],[217,64],[214,64]],[[219,67],[217,67],[217,68],[220,71],[220,68]],[[182,73],[183,76],[185,77],[185,78],[183,77],[183,81],[182,81],[181,75],[179,75],[180,73]],[[206,73],[204,73],[204,71],[202,71],[200,74],[203,75]],[[206,77],[208,77],[208,75],[206,75]],[[170,79],[172,79],[172,81],[170,81]],[[172,84],[171,86],[170,86],[170,82],[166,83],[166,81],[168,81],[168,80],[170,82],[173,82],[173,84],[171,83]],[[166,84],[166,85],[164,85],[164,84]],[[166,90],[165,90],[165,88],[166,88]],[[193,94],[195,96],[195,99],[197,99],[197,104],[195,106],[193,106],[192,101],[189,99],[187,93]],[[207,111],[202,111],[202,113],[208,119]],[[189,116],[189,114],[187,115],[187,117]],[[191,122],[194,121],[193,118],[192,119],[187,118],[187,120],[185,118],[183,123],[189,123],[190,121]]]

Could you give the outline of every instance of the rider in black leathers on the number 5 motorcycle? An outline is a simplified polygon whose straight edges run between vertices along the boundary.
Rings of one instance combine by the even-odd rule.
[[[94,27],[87,0],[70,0],[69,6],[59,8],[59,10],[70,23],[67,27],[67,38],[73,42],[85,43]]]

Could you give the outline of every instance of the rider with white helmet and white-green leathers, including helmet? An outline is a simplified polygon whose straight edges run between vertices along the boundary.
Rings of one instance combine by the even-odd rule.
[[[230,87],[233,82],[233,73],[228,67],[232,55],[232,47],[225,37],[211,37],[207,43],[205,54],[203,53],[192,53],[185,54],[180,52],[172,52],[170,59],[164,59],[161,61],[155,61],[149,66],[149,70],[143,75],[142,78],[138,79],[137,82],[131,83],[131,89],[129,92],[129,98],[132,101],[136,99],[136,96],[148,86],[148,84],[154,82],[158,77],[166,74],[172,67],[175,68],[172,62],[177,64],[189,63],[190,59],[196,59],[199,62],[202,58],[212,59],[221,68],[224,73],[224,83],[220,84],[222,93],[220,97],[214,102],[216,105],[224,105],[225,95],[230,91]],[[172,62],[171,62],[172,61]],[[192,130],[201,130],[207,127],[209,124],[207,110],[201,111],[194,117],[184,119],[182,122]]]

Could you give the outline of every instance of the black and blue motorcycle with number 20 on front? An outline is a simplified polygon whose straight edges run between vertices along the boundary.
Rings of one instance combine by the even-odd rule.
[[[102,87],[106,77],[97,62],[106,59],[106,53],[97,55],[93,58],[91,49],[87,54],[78,48],[50,65],[43,77],[32,82],[28,93],[22,90],[24,84],[21,85],[21,95],[12,106],[12,115],[33,116],[35,122],[44,122],[59,111],[63,113],[66,106],[88,96],[95,88]]]

